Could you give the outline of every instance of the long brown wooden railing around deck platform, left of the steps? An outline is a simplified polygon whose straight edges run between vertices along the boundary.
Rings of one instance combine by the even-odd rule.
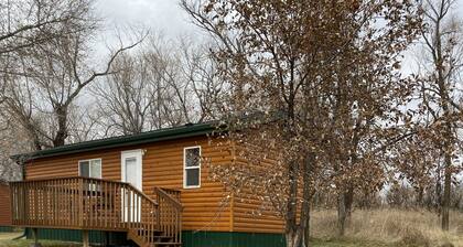
[[[126,230],[159,223],[158,204],[128,183],[65,178],[10,186],[13,225]]]

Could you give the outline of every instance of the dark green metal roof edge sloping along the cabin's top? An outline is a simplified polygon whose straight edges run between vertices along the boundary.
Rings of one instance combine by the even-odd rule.
[[[119,148],[126,146],[144,144],[157,141],[173,140],[186,137],[206,136],[217,129],[216,122],[190,124],[180,127],[159,129],[130,136],[119,136],[93,141],[84,141],[73,144],[65,144],[56,148],[45,149],[31,153],[21,153],[12,155],[11,159],[17,162],[34,160],[37,158],[56,157],[69,153],[79,153],[85,151],[95,151],[109,148]]]

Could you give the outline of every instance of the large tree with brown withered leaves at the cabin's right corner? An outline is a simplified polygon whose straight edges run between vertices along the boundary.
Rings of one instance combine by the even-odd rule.
[[[235,193],[243,186],[260,191],[262,203],[269,201],[284,218],[287,246],[308,246],[309,203],[319,174],[326,167],[347,167],[359,154],[362,164],[372,163],[360,148],[379,144],[355,136],[366,129],[368,140],[372,121],[387,118],[383,107],[400,96],[396,62],[417,34],[419,7],[358,0],[183,0],[182,6],[217,43],[213,54],[232,92],[227,138],[246,147],[237,159],[249,165],[225,165],[229,175],[217,178]]]

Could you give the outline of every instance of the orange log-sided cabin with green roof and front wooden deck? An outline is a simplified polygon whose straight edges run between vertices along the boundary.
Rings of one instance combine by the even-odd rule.
[[[11,225],[36,238],[103,245],[284,246],[283,221],[251,214],[208,165],[236,160],[213,124],[185,125],[12,157]]]

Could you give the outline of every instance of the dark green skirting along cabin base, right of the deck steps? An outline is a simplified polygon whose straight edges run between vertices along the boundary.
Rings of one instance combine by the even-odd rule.
[[[183,232],[183,247],[284,247],[282,234]]]

